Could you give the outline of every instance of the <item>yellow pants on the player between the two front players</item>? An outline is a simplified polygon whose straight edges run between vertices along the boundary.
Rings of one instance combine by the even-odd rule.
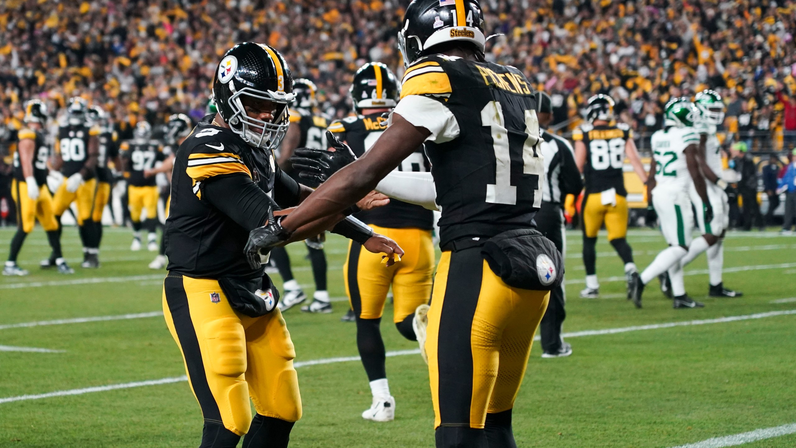
[[[378,319],[384,312],[384,301],[392,285],[392,320],[397,324],[431,297],[431,279],[434,275],[431,231],[371,227],[377,234],[397,242],[405,252],[404,257],[386,267],[381,262],[381,253],[368,252],[362,249],[361,244],[349,242],[348,257],[343,265],[345,293],[357,316]]]

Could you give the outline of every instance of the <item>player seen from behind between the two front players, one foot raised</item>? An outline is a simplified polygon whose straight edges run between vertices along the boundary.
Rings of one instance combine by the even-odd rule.
[[[382,126],[386,119],[381,115],[398,104],[398,82],[387,65],[369,62],[354,74],[349,94],[357,116],[335,121],[329,131],[347,143],[354,155],[361,157],[386,129]],[[418,145],[395,170],[416,172],[429,171],[429,168],[423,145]],[[361,244],[351,242],[343,265],[345,293],[356,316],[357,348],[373,395],[371,407],[362,413],[362,418],[388,422],[395,418],[395,399],[390,394],[384,367],[381,316],[392,285],[393,323],[402,336],[417,340],[412,328],[415,310],[427,304],[431,297],[434,215],[422,206],[392,199],[386,206],[354,216],[406,250],[400,261],[385,269],[380,254],[369,253],[362,250]]]

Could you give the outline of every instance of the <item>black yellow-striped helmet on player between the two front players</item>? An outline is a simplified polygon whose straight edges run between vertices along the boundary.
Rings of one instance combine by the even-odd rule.
[[[354,73],[349,94],[357,113],[366,108],[394,108],[398,104],[398,81],[387,65],[368,62]]]

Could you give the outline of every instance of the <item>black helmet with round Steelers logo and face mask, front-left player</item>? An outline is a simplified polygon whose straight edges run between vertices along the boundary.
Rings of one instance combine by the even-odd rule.
[[[279,107],[271,122],[246,115],[247,98]],[[295,98],[287,62],[268,45],[244,42],[224,53],[213,80],[213,101],[232,132],[253,147],[275,149],[287,132],[287,104]]]

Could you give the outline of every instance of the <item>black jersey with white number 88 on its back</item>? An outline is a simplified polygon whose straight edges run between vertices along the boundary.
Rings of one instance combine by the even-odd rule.
[[[586,145],[586,165],[583,166],[586,194],[616,189],[616,194],[626,196],[625,143],[633,138],[633,131],[624,123],[613,126],[581,124],[572,132],[572,140]]]

